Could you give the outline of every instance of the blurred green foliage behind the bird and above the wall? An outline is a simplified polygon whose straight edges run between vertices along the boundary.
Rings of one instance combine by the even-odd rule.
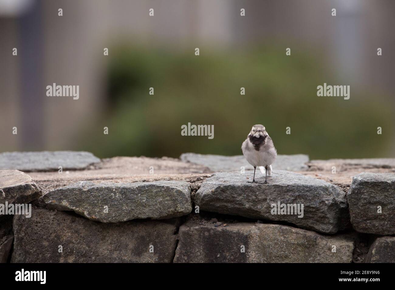
[[[120,46],[108,68],[108,109],[87,128],[84,149],[99,157],[241,154],[252,125],[263,124],[279,154],[310,159],[383,157],[393,106],[351,88],[350,99],[318,97],[318,85],[347,84],[309,55],[283,47],[184,51]],[[154,95],[149,95],[149,88]],[[246,94],[240,94],[244,87]],[[214,125],[214,139],[181,136],[181,125]],[[109,127],[109,135],[101,128]],[[286,135],[286,127],[291,134]]]

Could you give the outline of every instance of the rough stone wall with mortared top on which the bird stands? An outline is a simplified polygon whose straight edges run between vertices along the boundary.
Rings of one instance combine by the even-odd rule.
[[[245,163],[1,153],[0,262],[395,262],[394,159]]]

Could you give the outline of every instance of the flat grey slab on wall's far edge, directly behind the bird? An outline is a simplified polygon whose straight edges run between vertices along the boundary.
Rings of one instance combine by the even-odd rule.
[[[182,161],[189,161],[191,163],[199,164],[210,168],[212,172],[229,172],[241,171],[241,167],[245,170],[254,170],[243,155],[223,156],[211,154],[198,154],[198,153],[184,153],[181,154]],[[273,169],[300,171],[307,169],[305,163],[308,162],[308,155],[295,154],[295,155],[277,155],[276,161],[273,163]]]

